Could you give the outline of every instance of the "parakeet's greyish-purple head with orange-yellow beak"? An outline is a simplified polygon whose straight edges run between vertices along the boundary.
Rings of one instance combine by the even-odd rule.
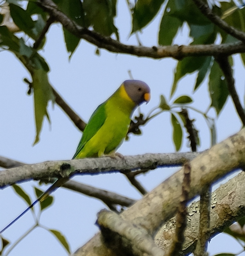
[[[126,80],[123,82],[123,85],[127,95],[136,105],[140,105],[143,102],[149,102],[150,88],[145,82],[140,80]]]

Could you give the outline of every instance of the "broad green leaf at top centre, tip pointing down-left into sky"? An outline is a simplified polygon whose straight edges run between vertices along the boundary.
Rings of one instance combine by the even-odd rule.
[[[138,0],[133,9],[132,33],[145,27],[157,14],[164,0]]]

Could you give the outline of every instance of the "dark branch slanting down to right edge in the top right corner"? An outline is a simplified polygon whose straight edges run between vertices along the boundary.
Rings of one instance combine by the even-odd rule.
[[[224,20],[222,20],[217,14],[213,13],[209,6],[202,0],[193,0],[199,10],[208,18],[212,23],[217,25],[219,28],[223,29],[226,33],[232,35],[233,37],[241,40],[245,43],[245,33],[241,30],[235,29],[229,26]]]

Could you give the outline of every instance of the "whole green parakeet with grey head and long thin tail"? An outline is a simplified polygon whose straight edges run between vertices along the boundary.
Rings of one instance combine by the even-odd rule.
[[[115,155],[126,137],[134,109],[149,102],[150,88],[140,80],[126,80],[90,117],[73,159]],[[0,234],[51,192],[62,186],[69,178],[59,178],[36,201],[23,211]]]

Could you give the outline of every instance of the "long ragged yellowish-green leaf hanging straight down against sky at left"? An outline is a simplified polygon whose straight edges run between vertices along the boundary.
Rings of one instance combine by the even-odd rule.
[[[51,90],[48,75],[45,70],[42,69],[41,63],[37,60],[36,64],[40,66],[33,70],[32,85],[34,89],[34,110],[35,110],[35,122],[36,122],[36,138],[34,145],[39,141],[39,134],[42,129],[42,122],[44,116],[47,117],[50,122],[49,114],[47,112],[48,102],[53,100],[54,95]]]

